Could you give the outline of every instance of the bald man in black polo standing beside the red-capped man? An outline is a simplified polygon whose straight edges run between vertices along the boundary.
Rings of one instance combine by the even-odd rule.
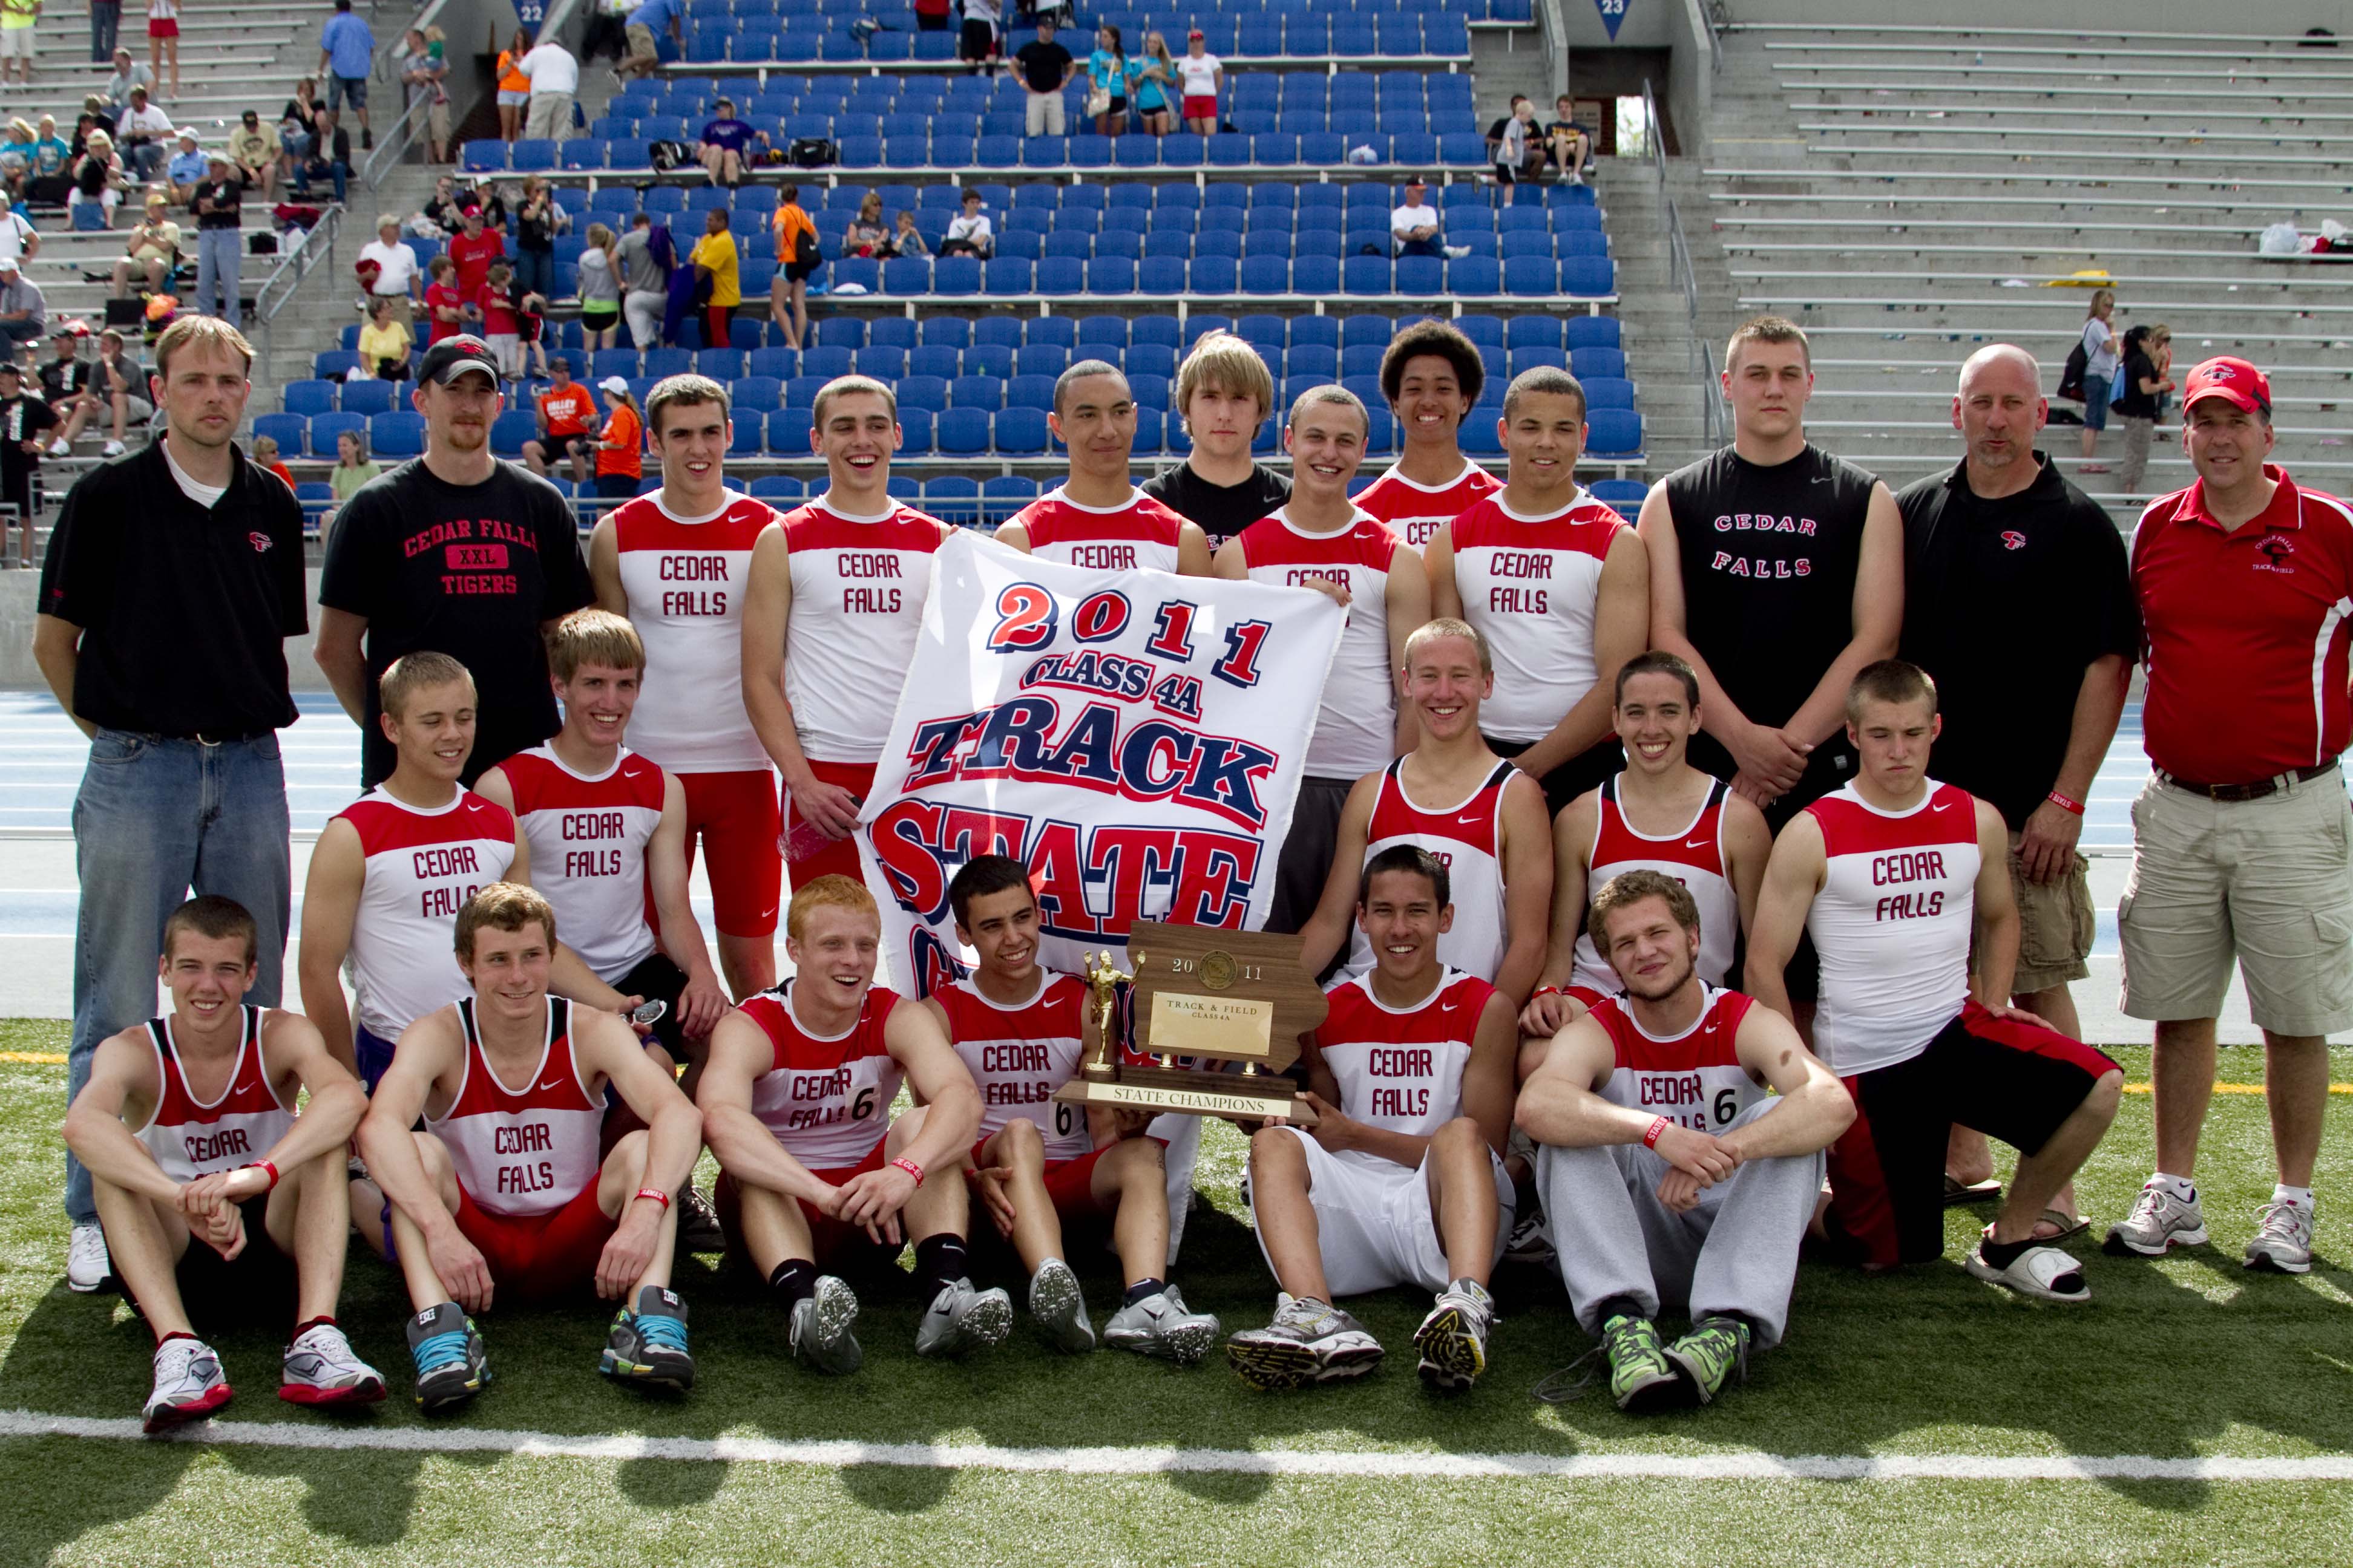
[[[2125,710],[2141,628],[2115,522],[2035,449],[2049,414],[2040,381],[2035,357],[2012,343],[1960,367],[1953,428],[1965,456],[1897,496],[1901,656],[1937,679],[1937,778],[2009,823],[2021,919],[2012,1001],[2080,1039],[2068,983],[2089,976],[2092,893],[2075,839]],[[2038,628],[2035,637],[2019,637],[2021,625]],[[1953,1185],[1991,1171],[1986,1138],[1955,1128]],[[2064,1190],[2038,1237],[2078,1227]]]

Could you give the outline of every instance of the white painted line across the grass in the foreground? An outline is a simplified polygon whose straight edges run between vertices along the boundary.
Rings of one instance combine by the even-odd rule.
[[[151,1441],[139,1422],[0,1410],[5,1436]],[[494,1453],[562,1460],[692,1460],[727,1465],[896,1465],[1016,1474],[1158,1476],[1247,1474],[1449,1481],[2353,1481],[2353,1455],[2160,1460],[2137,1453],[2012,1458],[1962,1453],[1784,1455],[1727,1453],[1348,1453],[1329,1448],[998,1448],[993,1443],[788,1443],[760,1436],[562,1436],[489,1427],[322,1427],[226,1422],[181,1427],[169,1441],[245,1448]]]

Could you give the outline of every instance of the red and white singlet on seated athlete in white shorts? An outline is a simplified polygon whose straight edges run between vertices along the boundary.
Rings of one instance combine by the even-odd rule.
[[[1464,1065],[1494,987],[1447,969],[1421,1006],[1393,1009],[1372,994],[1372,976],[1337,980],[1315,1048],[1339,1081],[1344,1117],[1388,1133],[1426,1138],[1461,1114]],[[1388,1164],[1377,1154],[1339,1159]]]

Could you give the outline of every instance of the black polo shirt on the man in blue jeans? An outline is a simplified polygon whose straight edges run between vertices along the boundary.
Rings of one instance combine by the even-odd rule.
[[[82,628],[73,712],[158,736],[285,729],[285,639],[311,630],[301,503],[233,449],[228,491],[202,508],[162,449],[82,475],[49,534],[40,614]]]

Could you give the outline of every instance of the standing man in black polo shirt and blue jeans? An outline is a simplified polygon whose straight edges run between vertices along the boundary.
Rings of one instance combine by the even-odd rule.
[[[40,569],[33,658],[89,736],[73,799],[82,886],[66,1100],[96,1044],[155,1011],[162,922],[188,891],[254,917],[254,987],[278,1006],[292,870],[278,731],[294,722],[285,639],[308,628],[301,505],[233,444],[254,350],[184,315],[155,343],[165,440],[66,496]],[[108,1272],[89,1173],[66,1157],[66,1279]]]

